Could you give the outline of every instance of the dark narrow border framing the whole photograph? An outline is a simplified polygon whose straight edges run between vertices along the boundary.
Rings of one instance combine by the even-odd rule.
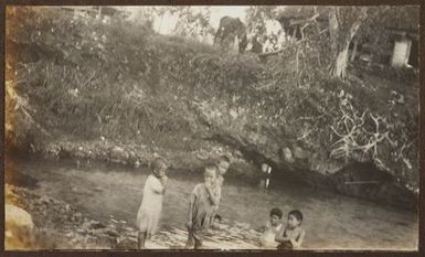
[[[425,73],[424,73],[424,60],[425,60],[425,45],[424,45],[424,18],[425,18],[425,7],[424,2],[419,0],[410,0],[410,1],[396,1],[396,0],[349,0],[349,1],[331,1],[331,0],[287,0],[287,1],[235,1],[235,0],[219,0],[219,1],[195,1],[195,0],[159,0],[159,1],[108,1],[108,0],[88,0],[88,1],[54,1],[54,0],[46,0],[46,1],[39,1],[39,0],[2,0],[1,1],[1,10],[0,10],[0,24],[1,26],[1,34],[4,35],[4,22],[6,22],[6,9],[8,6],[169,6],[169,4],[179,4],[179,6],[190,6],[190,4],[196,4],[196,6],[263,6],[263,4],[281,4],[281,6],[379,6],[379,4],[389,4],[389,6],[404,6],[404,4],[414,4],[414,6],[421,6],[421,28],[419,28],[419,165],[421,165],[421,178],[419,178],[419,188],[423,190],[424,186],[424,180],[425,180],[425,160],[424,160],[424,148],[425,146],[425,133],[424,133],[424,114],[423,109],[425,107],[425,96],[423,92],[423,82],[425,81]],[[2,47],[1,51],[1,75],[0,78],[3,82],[3,87],[0,90],[0,95],[3,99],[2,101],[2,113],[1,113],[1,121],[3,122],[2,127],[2,138],[1,138],[1,156],[2,156],[2,171],[1,178],[3,179],[3,191],[2,191],[2,201],[4,201],[4,58],[6,58],[6,39],[4,36],[0,36],[0,45]],[[424,225],[424,213],[425,207],[424,203],[425,196],[424,193],[419,193],[419,206],[418,206],[418,213],[419,213],[419,235],[418,235],[418,251],[386,251],[386,250],[301,250],[301,251],[290,251],[290,253],[279,253],[279,251],[272,251],[272,250],[146,250],[146,251],[139,251],[139,250],[34,250],[34,251],[14,251],[14,250],[4,250],[4,234],[1,233],[1,246],[2,246],[2,256],[75,256],[75,255],[84,255],[84,256],[423,256],[425,255],[425,225]],[[1,206],[1,214],[3,216],[4,221],[4,204]],[[4,232],[4,223],[1,223],[1,228]]]

